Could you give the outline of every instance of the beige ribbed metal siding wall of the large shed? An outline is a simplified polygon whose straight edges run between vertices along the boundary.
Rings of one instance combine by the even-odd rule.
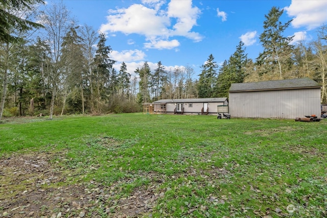
[[[320,116],[320,88],[230,92],[229,113],[261,118]]]

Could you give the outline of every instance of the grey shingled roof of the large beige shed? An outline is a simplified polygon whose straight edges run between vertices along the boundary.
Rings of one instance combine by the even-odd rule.
[[[316,81],[309,78],[271,80],[271,81],[262,81],[262,82],[252,82],[252,83],[233,83],[229,88],[229,92],[302,89],[302,88],[320,88],[320,85]]]

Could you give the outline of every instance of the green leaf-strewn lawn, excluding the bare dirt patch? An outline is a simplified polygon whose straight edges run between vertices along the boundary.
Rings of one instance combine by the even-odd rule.
[[[154,217],[326,215],[327,120],[41,117],[5,120],[0,137],[0,156],[51,152],[67,184],[119,187],[112,201],[155,187]]]

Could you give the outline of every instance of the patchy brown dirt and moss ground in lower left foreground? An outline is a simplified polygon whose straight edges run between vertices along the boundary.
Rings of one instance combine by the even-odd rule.
[[[94,181],[72,183],[67,181],[72,176],[65,175],[53,158],[54,154],[35,152],[0,158],[0,217],[152,216],[160,196],[155,185],[115,199],[119,182],[110,187]]]

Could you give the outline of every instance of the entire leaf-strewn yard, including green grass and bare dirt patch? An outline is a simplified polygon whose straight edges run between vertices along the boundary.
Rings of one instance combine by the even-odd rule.
[[[326,145],[327,119],[3,120],[0,217],[323,217]]]

